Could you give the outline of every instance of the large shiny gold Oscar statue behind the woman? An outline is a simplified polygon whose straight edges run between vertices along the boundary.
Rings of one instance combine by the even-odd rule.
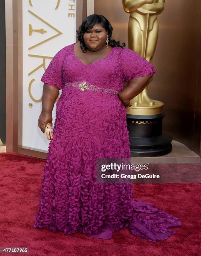
[[[147,61],[152,62],[158,39],[158,14],[164,9],[165,0],[122,0],[126,13],[130,13],[128,23],[128,48]],[[127,114],[156,115],[162,113],[163,102],[151,100],[148,86],[131,100]]]

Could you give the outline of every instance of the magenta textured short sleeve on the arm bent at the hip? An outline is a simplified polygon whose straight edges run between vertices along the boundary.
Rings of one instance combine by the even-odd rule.
[[[129,82],[133,77],[146,77],[156,73],[151,62],[131,49],[122,48],[120,59],[121,72],[125,82]]]

